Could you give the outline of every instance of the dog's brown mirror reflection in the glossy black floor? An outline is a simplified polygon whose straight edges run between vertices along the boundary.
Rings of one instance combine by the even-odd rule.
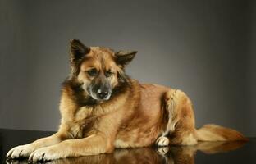
[[[167,164],[193,164],[194,153],[213,154],[235,150],[245,142],[202,142],[194,146],[171,146],[162,148],[129,148],[117,149],[114,153],[97,156],[71,157],[50,162],[47,164],[134,164],[134,163],[167,163]],[[7,164],[25,164],[27,160],[11,160]]]

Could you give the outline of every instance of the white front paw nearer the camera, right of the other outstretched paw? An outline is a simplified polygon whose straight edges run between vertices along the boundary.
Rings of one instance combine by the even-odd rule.
[[[63,151],[63,150],[62,150]],[[54,159],[61,158],[62,154],[59,151],[54,151],[51,147],[39,148],[30,154],[30,162],[39,162],[39,161],[51,161]]]

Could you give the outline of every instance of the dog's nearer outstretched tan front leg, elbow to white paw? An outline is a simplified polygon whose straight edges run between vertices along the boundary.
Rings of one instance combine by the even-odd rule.
[[[84,139],[68,139],[53,146],[39,148],[30,154],[29,161],[49,161],[63,157],[79,157],[110,153],[113,145],[102,134],[93,134]]]

